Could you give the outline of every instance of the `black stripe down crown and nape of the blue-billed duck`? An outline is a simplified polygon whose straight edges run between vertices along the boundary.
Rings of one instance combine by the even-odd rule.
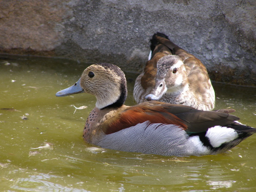
[[[110,69],[113,72],[115,72],[117,74],[117,76],[121,77],[121,82],[120,82],[120,97],[117,99],[116,102],[112,103],[111,105],[106,106],[105,108],[109,108],[109,107],[120,107],[124,104],[125,100],[127,99],[127,85],[126,85],[126,79],[125,79],[125,75],[124,72],[121,71],[121,69],[119,67],[117,67],[114,64],[110,64],[110,63],[97,63],[96,65],[101,65],[102,67],[104,67],[105,69]],[[102,108],[102,109],[105,109]]]

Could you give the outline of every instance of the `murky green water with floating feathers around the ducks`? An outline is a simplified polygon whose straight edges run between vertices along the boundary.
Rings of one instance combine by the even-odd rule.
[[[84,143],[83,126],[95,98],[55,93],[74,84],[88,65],[0,57],[0,108],[5,108],[0,110],[0,191],[256,191],[256,135],[228,153],[204,157],[162,157]],[[137,75],[125,74],[125,104],[134,105]],[[256,127],[256,88],[213,86],[215,109],[234,108],[241,123]],[[73,105],[88,107],[74,114]]]

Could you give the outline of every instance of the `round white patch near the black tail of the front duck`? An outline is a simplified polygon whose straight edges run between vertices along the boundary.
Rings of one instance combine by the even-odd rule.
[[[206,137],[210,140],[212,147],[219,147],[221,144],[230,142],[238,137],[238,133],[227,127],[215,126],[208,129]]]

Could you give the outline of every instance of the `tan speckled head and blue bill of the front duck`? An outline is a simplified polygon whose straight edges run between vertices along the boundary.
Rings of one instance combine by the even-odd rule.
[[[127,85],[123,71],[109,63],[97,63],[87,67],[78,82],[56,93],[57,97],[77,93],[90,93],[96,99],[96,107],[103,109],[121,106],[127,98]]]

